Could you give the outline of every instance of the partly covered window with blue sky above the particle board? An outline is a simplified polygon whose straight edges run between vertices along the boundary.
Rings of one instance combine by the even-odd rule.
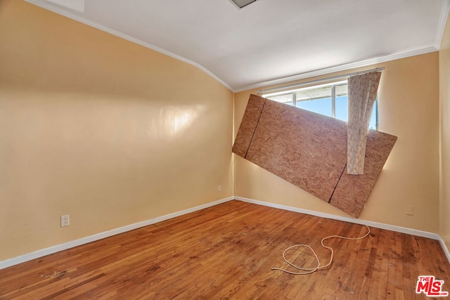
[[[347,81],[309,86],[294,91],[271,93],[263,95],[263,97],[345,122],[348,121]],[[378,99],[375,100],[373,105],[369,128],[375,130],[378,128]]]

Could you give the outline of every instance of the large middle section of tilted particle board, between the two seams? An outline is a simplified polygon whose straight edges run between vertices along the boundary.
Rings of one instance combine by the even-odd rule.
[[[245,158],[328,202],[347,162],[346,134],[345,122],[266,100]]]

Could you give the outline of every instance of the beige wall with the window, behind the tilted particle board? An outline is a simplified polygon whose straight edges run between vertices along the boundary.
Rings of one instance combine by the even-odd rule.
[[[382,66],[379,130],[398,140],[359,219],[439,233],[438,53],[364,69]],[[235,94],[235,132],[256,91]],[[237,155],[235,164],[237,196],[347,216]],[[413,216],[405,214],[406,207],[414,207]]]

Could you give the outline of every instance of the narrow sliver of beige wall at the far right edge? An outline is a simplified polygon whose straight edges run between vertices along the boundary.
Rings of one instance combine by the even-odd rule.
[[[440,234],[450,249],[450,18],[439,51],[439,99],[441,105]]]

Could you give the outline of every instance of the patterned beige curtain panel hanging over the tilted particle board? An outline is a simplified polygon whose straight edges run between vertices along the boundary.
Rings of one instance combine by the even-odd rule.
[[[349,77],[349,121],[347,123],[347,174],[364,174],[368,124],[377,96],[381,72]]]

